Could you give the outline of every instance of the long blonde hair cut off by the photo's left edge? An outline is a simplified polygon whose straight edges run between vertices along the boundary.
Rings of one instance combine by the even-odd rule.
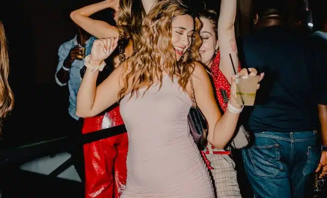
[[[14,97],[8,83],[9,57],[4,27],[0,21],[0,133],[3,119],[6,118],[14,105]]]

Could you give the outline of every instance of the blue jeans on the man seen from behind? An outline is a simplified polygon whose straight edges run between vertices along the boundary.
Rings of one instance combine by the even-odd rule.
[[[317,132],[260,132],[254,137],[242,155],[255,197],[306,198],[321,157]]]

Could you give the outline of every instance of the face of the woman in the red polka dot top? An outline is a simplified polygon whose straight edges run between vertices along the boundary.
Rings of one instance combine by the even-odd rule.
[[[203,40],[203,44],[199,49],[201,55],[201,62],[209,66],[214,58],[215,51],[218,49],[218,39],[216,38],[217,33],[215,32],[212,22],[208,18],[200,18],[203,27],[200,31],[200,35]]]

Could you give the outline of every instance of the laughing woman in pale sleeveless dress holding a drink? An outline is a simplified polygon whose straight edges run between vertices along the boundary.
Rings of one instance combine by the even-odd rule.
[[[98,87],[99,69],[117,39],[96,40],[86,57],[76,113],[91,117],[120,101],[129,141],[121,198],[214,198],[208,169],[189,133],[190,80],[215,147],[223,148],[233,136],[242,106],[231,99],[221,116],[208,73],[194,62],[200,29],[199,18],[181,0],[162,0],[143,20],[136,53]],[[234,79],[231,90],[235,94]]]

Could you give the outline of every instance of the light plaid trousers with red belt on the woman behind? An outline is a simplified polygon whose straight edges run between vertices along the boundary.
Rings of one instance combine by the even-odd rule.
[[[210,170],[217,192],[217,198],[242,198],[237,183],[235,162],[227,154],[214,154],[213,151],[223,151],[222,149],[212,148],[208,145],[206,154],[210,161]]]

